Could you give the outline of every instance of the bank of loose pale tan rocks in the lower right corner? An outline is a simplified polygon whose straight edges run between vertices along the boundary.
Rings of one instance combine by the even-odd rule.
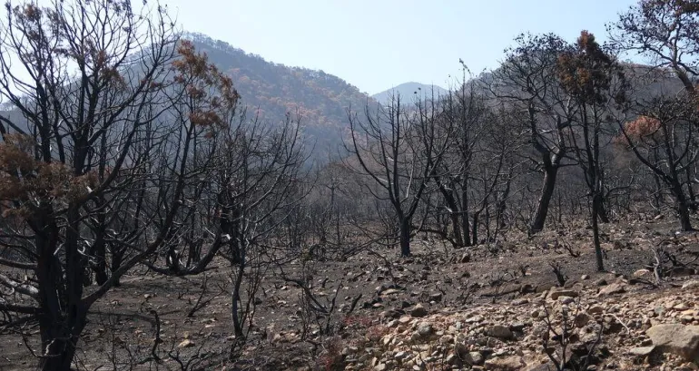
[[[695,370],[698,294],[694,279],[648,291],[610,274],[466,310],[418,304],[340,354],[358,370]]]

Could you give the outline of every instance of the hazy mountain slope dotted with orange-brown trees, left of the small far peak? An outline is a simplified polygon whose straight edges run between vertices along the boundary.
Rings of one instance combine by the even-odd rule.
[[[319,161],[337,153],[342,148],[341,138],[349,135],[347,108],[362,110],[368,102],[375,104],[337,76],[271,63],[202,34],[185,37],[222,72],[231,75],[249,115],[259,112],[263,120],[281,122],[287,112],[300,112],[306,142],[315,146],[314,157]]]

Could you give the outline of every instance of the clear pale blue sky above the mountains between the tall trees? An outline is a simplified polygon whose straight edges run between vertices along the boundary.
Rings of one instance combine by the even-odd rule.
[[[409,81],[448,85],[458,58],[492,68],[519,33],[582,29],[604,38],[637,0],[162,0],[187,31],[268,61],[321,69],[367,93]]]

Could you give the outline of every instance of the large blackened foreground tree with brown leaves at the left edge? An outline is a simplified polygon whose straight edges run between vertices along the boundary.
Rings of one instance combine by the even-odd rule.
[[[0,281],[20,296],[3,295],[0,307],[12,313],[5,326],[38,322],[40,343],[27,346],[42,369],[68,370],[88,309],[172,234],[186,174],[157,211],[127,206],[151,176],[140,169],[157,147],[143,142],[168,132],[157,118],[169,105],[162,82],[177,39],[160,6],[55,0],[5,9],[0,94],[14,116],[0,125],[0,264],[12,269]],[[119,234],[115,213],[141,227]],[[162,223],[148,226],[156,213]],[[109,277],[106,245],[129,250]],[[99,282],[85,289],[94,267]]]

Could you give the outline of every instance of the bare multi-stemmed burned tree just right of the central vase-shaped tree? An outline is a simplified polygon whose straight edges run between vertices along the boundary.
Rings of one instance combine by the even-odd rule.
[[[431,209],[437,217],[448,216],[451,232],[446,227],[432,231],[457,248],[476,245],[481,224],[490,231],[491,215],[502,221],[513,150],[521,136],[510,130],[507,112],[488,105],[480,88],[464,78],[456,92],[442,98],[436,121],[452,134],[444,160],[433,172],[440,197]]]

